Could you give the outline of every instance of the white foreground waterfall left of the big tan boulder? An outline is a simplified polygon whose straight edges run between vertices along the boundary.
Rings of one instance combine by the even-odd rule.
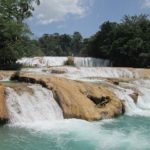
[[[29,92],[17,93],[7,88],[7,107],[12,124],[35,123],[63,119],[62,110],[53,98],[51,91],[39,86],[29,86]]]

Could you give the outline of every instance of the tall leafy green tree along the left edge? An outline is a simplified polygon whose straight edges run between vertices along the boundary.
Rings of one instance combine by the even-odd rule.
[[[37,0],[0,0],[0,68],[12,67],[19,56],[16,45],[31,33],[23,22],[32,15]],[[20,53],[21,54],[21,53]]]

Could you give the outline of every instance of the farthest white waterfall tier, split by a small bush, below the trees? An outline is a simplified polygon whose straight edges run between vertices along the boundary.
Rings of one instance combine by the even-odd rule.
[[[25,66],[49,67],[63,66],[66,60],[68,57],[33,57],[19,59],[17,63]],[[106,67],[110,65],[109,60],[91,57],[74,57],[74,62],[77,67]]]

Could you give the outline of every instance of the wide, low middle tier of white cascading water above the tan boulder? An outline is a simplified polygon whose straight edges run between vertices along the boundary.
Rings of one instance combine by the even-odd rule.
[[[51,69],[64,70],[63,74],[57,76],[69,79],[86,79],[86,78],[138,78],[139,70],[130,68],[112,68],[112,67],[52,67],[52,68],[25,68],[23,72],[51,74]],[[53,73],[54,74],[54,73]],[[56,74],[55,74],[56,75]]]

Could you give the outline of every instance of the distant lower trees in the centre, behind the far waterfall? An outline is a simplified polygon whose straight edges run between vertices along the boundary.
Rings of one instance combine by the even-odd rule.
[[[74,32],[73,35],[44,34],[39,38],[39,45],[47,56],[79,56],[83,38],[79,32]]]

